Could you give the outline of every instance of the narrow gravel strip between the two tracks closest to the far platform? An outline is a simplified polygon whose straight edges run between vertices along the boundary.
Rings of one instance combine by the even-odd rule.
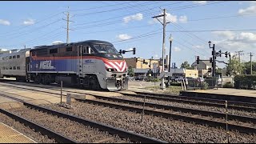
[[[129,97],[129,96],[121,96],[121,97],[113,97],[113,98],[122,98],[122,99],[127,99],[127,100],[144,102],[143,98],[135,98],[135,97]],[[154,99],[150,99],[150,98],[146,98],[146,102],[156,103],[156,104],[160,104],[160,105],[167,105],[167,106],[190,108],[190,109],[196,109],[196,110],[207,110],[207,111],[220,112],[220,113],[225,114],[224,107],[221,108],[221,107],[214,107],[214,106],[192,105],[192,104],[182,103],[182,102],[166,102],[166,101],[154,100]],[[256,111],[248,112],[248,111],[243,111],[243,110],[228,109],[228,113],[234,114],[234,115],[256,118]]]

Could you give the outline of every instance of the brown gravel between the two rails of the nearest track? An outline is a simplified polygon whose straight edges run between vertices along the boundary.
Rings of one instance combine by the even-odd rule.
[[[50,130],[58,132],[58,134],[65,135],[68,138],[74,139],[77,142],[102,142],[106,139],[106,143],[113,142],[129,142],[118,136],[113,136],[107,134],[107,132],[102,132],[91,128],[90,126],[84,126],[81,123],[70,121],[66,118],[58,118],[57,116],[42,113],[38,110],[32,110],[26,106],[21,108],[11,110],[15,114],[22,116],[23,118],[28,118],[30,121],[38,123],[42,126],[46,126]]]

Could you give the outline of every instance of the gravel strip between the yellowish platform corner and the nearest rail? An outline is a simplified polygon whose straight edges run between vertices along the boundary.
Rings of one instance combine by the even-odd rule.
[[[20,133],[26,135],[28,138],[33,139],[38,143],[56,143],[54,139],[50,139],[47,136],[44,136],[34,130],[30,129],[30,127],[24,126],[20,122],[16,122],[14,119],[6,116],[5,114],[0,114],[0,122],[5,123],[8,126],[11,126],[15,130],[18,130]]]

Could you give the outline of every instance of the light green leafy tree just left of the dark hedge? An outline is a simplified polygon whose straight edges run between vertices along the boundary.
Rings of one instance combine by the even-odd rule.
[[[239,59],[236,55],[233,55],[231,61],[229,61],[228,66],[226,67],[227,74],[235,75],[235,74],[243,74],[245,69],[244,63],[239,64]]]

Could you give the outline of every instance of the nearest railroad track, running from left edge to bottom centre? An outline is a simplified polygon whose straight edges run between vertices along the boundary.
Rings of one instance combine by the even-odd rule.
[[[6,98],[12,98],[9,95],[4,95],[4,94],[2,94],[1,96],[6,97]],[[70,114],[64,114],[64,113],[58,112],[56,110],[50,110],[50,109],[47,109],[46,107],[36,106],[36,105],[31,104],[31,103],[21,101],[18,98],[12,98],[12,99],[17,100],[19,102],[22,102],[23,105],[26,106],[26,108],[23,108],[22,110],[17,110],[16,113],[22,114],[22,117],[26,117],[26,118],[28,117],[28,118],[30,118],[30,120],[34,120],[34,121],[39,122],[39,123],[50,122],[48,124],[49,125],[51,124],[51,126],[54,127],[55,130],[56,130],[56,126],[62,125],[62,123],[66,123],[66,125],[69,125],[70,122],[76,122],[73,125],[74,126],[73,127],[73,130],[74,130],[73,133],[72,132],[69,132],[69,133],[66,132],[67,135],[71,136],[75,140],[71,140],[70,137],[66,138],[62,134],[55,133],[55,132],[53,132],[53,130],[47,129],[45,126],[38,127],[39,125],[37,125],[36,128],[38,130],[42,130],[42,132],[44,130],[48,130],[44,134],[48,133],[48,134],[51,135],[51,138],[58,138],[57,142],[68,142],[68,140],[70,140],[70,142],[108,142],[108,141],[110,141],[110,142],[129,142],[128,141],[128,139],[129,139],[131,142],[150,142],[150,143],[152,143],[152,142],[159,143],[160,142],[160,143],[166,143],[166,142],[158,140],[156,138],[146,137],[142,134],[135,134],[133,132],[129,132],[129,131],[126,131],[126,130],[114,128],[113,126],[107,126],[107,125],[104,125],[104,124],[101,124],[101,123],[98,123],[98,122],[93,122],[93,121],[90,121],[90,120],[86,120],[84,118],[78,118],[78,117],[70,115]],[[6,115],[10,116],[11,118],[16,118],[18,121],[20,121],[22,123],[33,123],[33,125],[31,125],[31,124],[30,125],[31,126],[36,126],[35,122],[31,122],[30,120],[27,120],[26,118],[22,118],[21,116],[18,116],[17,114],[11,113],[10,111],[6,111],[6,110],[1,109],[1,112],[3,114],[6,114]],[[54,122],[57,121],[56,119],[58,119],[56,117],[62,118],[62,120],[59,123],[54,123]],[[66,119],[68,119],[68,121],[70,121],[70,122],[66,122]],[[94,130],[88,130],[89,131],[88,133],[90,133],[89,137],[80,138],[82,135],[76,133],[77,130],[79,131],[79,128],[82,129],[82,130],[89,129],[88,127],[86,127],[86,128],[82,127],[79,124],[82,125],[82,126],[90,126],[90,127],[94,128]],[[62,126],[62,128],[63,129],[58,128],[58,131],[62,132],[62,130],[64,130],[64,131],[69,130],[69,128],[66,128],[66,126]],[[109,134],[99,133],[95,129],[98,129],[100,131],[105,131]],[[91,134],[94,134],[94,135],[91,135]],[[115,135],[118,135],[118,137],[120,137],[120,138],[125,138],[126,141],[123,141],[120,138],[119,139],[116,138]],[[95,141],[94,141],[94,138],[96,138]],[[64,141],[65,139],[67,139],[67,140]]]

